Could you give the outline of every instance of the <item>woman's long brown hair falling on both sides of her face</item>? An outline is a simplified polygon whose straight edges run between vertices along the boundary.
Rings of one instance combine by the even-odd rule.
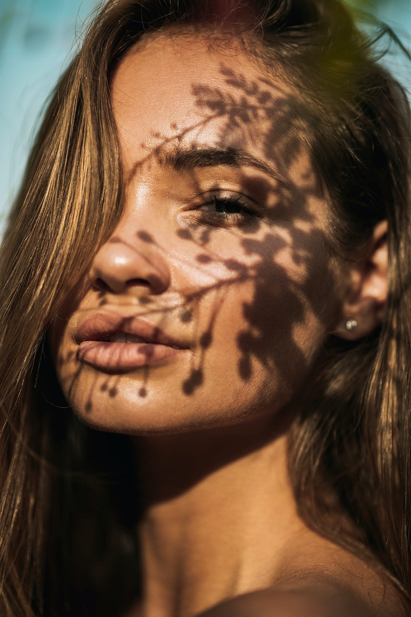
[[[113,615],[137,588],[135,521],[124,512],[138,508],[121,508],[124,482],[132,481],[127,437],[92,431],[70,413],[46,330],[87,271],[90,247],[105,242],[121,214],[113,65],[144,33],[177,24],[218,30],[219,4],[102,6],[59,80],[10,212],[0,252],[0,610],[7,615]],[[332,203],[332,250],[349,258],[376,222],[388,220],[384,323],[354,344],[330,338],[291,431],[299,512],[382,569],[410,606],[410,109],[376,46],[384,36],[401,43],[377,23],[372,35],[360,32],[340,0],[249,7],[240,33],[246,49],[269,70],[280,65],[299,93],[304,139]],[[336,519],[341,510],[345,518]]]

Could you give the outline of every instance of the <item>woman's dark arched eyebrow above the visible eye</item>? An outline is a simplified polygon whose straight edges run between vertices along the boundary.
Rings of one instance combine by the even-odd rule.
[[[163,167],[171,168],[175,172],[191,171],[198,167],[215,167],[217,165],[227,165],[229,167],[249,165],[266,173],[266,175],[274,178],[274,180],[287,188],[288,191],[291,191],[291,184],[286,176],[272,165],[241,148],[177,148],[167,152],[161,164]]]

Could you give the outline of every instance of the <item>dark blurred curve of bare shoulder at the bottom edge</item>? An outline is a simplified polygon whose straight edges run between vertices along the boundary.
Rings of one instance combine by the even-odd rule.
[[[198,617],[376,617],[376,613],[348,590],[314,582],[241,595]]]

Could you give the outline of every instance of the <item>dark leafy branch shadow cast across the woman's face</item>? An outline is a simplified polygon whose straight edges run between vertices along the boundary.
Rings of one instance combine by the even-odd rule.
[[[248,257],[247,262],[253,265],[246,265],[235,257],[224,258],[216,254],[213,250],[213,240],[219,233],[216,226],[204,222],[192,223],[177,230],[177,237],[198,249],[195,266],[208,272],[212,267],[220,270],[224,268],[226,276],[216,276],[215,281],[185,294],[179,302],[171,307],[168,305],[166,309],[161,306],[161,300],[150,294],[144,294],[140,299],[142,310],[139,314],[149,319],[151,316],[159,328],[166,329],[168,321],[177,318],[182,325],[187,324],[187,331],[190,328],[193,333],[196,308],[203,299],[210,300],[213,297],[208,326],[202,331],[195,331],[199,351],[189,374],[181,383],[181,392],[185,396],[194,395],[205,383],[203,368],[206,355],[213,347],[214,325],[224,298],[236,286],[249,281],[254,290],[253,298],[244,302],[242,307],[247,326],[238,329],[237,333],[240,352],[238,376],[246,386],[253,378],[253,366],[259,363],[267,371],[276,371],[283,383],[288,384],[289,365],[284,362],[284,356],[293,358],[293,363],[302,368],[306,366],[306,358],[296,341],[296,327],[303,325],[307,312],[322,319],[326,294],[332,280],[328,263],[320,263],[321,250],[327,245],[327,238],[315,221],[310,207],[312,200],[323,199],[314,169],[312,166],[304,168],[298,181],[290,180],[290,170],[298,167],[304,155],[301,106],[295,96],[285,93],[264,78],[251,79],[224,66],[221,67],[221,75],[224,77],[224,87],[204,83],[192,85],[192,95],[202,119],[184,128],[172,125],[171,136],[155,133],[155,146],[150,149],[145,147],[147,154],[136,162],[131,171],[131,176],[134,176],[140,168],[158,164],[163,167],[174,165],[178,171],[181,163],[179,151],[183,152],[181,156],[186,155],[187,149],[197,152],[203,147],[201,131],[219,120],[215,149],[224,151],[227,157],[230,152],[234,152],[233,139],[236,143],[240,140],[240,143],[247,144],[248,149],[258,151],[259,159],[275,168],[280,179],[286,179],[284,183],[262,180],[261,176],[258,179],[248,176],[244,180],[245,184],[250,184],[251,189],[251,184],[258,183],[260,199],[269,204],[267,210],[271,209],[264,223],[256,221],[250,228],[242,229],[242,251]],[[199,137],[191,139],[188,147],[187,144],[182,147],[182,141],[187,141],[193,133]],[[306,160],[309,160],[307,155]],[[217,159],[215,164],[218,164]],[[233,165],[236,165],[234,155]],[[195,187],[194,190],[201,192],[196,169],[193,164],[190,183]],[[138,229],[135,237],[135,244],[128,243],[132,251],[141,252],[145,259],[150,259],[150,254],[155,259],[157,251],[168,259],[168,247],[161,246],[152,229]],[[125,242],[116,237],[109,241]],[[289,264],[282,261],[286,251],[298,276],[290,276]],[[184,258],[181,265],[187,266]],[[319,286],[319,278],[324,282],[322,286]],[[313,289],[317,289],[315,294],[312,293]],[[105,296],[105,291],[102,291],[102,306]],[[272,313],[269,307],[273,307]],[[232,327],[235,328],[235,324]],[[145,397],[149,391],[152,370],[146,367],[143,372],[139,391],[141,397]],[[121,376],[110,376],[107,392],[116,391],[118,379]],[[92,410],[92,402],[90,405]]]

